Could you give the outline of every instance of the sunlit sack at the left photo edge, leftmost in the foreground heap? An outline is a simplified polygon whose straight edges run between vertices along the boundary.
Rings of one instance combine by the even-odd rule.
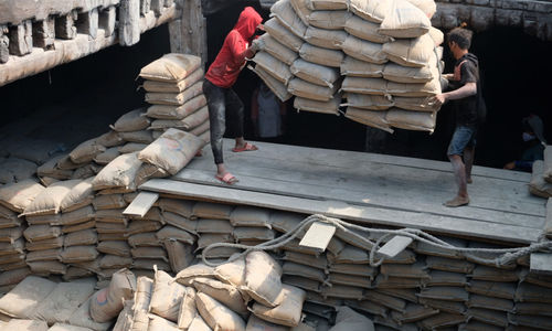
[[[13,318],[30,318],[55,287],[56,284],[51,280],[29,276],[0,298],[0,312]]]

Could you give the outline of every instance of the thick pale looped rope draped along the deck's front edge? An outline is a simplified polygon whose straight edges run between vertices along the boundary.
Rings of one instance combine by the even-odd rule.
[[[533,252],[543,250],[543,249],[552,249],[552,241],[542,241],[539,243],[533,243],[527,247],[516,247],[516,248],[456,247],[447,242],[444,242],[444,241],[442,241],[442,239],[439,239],[439,238],[437,238],[428,233],[425,233],[425,232],[423,232],[421,229],[416,229],[416,228],[401,228],[401,229],[369,228],[369,227],[360,226],[360,225],[352,224],[352,223],[349,223],[346,221],[341,221],[338,218],[328,217],[328,216],[320,215],[320,214],[314,214],[314,215],[310,215],[307,218],[302,220],[299,224],[297,224],[296,227],[294,227],[291,231],[285,233],[284,235],[282,235],[275,239],[265,242],[263,244],[256,245],[256,246],[248,246],[248,245],[243,245],[243,244],[231,244],[231,243],[211,244],[203,249],[203,254],[202,254],[203,263],[208,266],[216,267],[216,266],[222,265],[224,263],[230,263],[230,261],[234,261],[236,259],[240,259],[240,258],[244,257],[245,255],[247,255],[250,252],[272,250],[272,249],[280,248],[280,247],[287,245],[293,239],[295,239],[300,233],[302,233],[302,231],[307,226],[310,226],[315,222],[320,222],[320,223],[333,225],[333,226],[336,226],[336,228],[339,228],[342,232],[347,233],[348,235],[353,236],[359,242],[371,245],[372,248],[370,249],[370,266],[372,266],[372,267],[378,267],[383,263],[384,258],[379,258],[376,260],[375,254],[376,254],[380,245],[386,238],[392,237],[392,236],[410,237],[413,241],[418,241],[421,243],[425,243],[427,245],[431,245],[431,246],[434,246],[437,248],[447,249],[450,252],[464,253],[465,256],[474,259],[476,263],[484,264],[484,265],[492,264],[497,267],[509,265],[512,261],[517,260],[518,258],[526,256],[526,255],[529,255]],[[361,236],[360,234],[355,233],[354,231],[363,232],[363,233],[382,234],[382,236],[379,237],[378,241],[373,242],[367,237]],[[233,255],[224,263],[209,261],[205,258],[205,256],[208,255],[208,252],[210,252],[211,249],[217,248],[217,247],[237,248],[237,249],[244,249],[244,252],[236,254],[236,255]],[[479,254],[500,254],[500,256],[497,256],[495,258],[485,258],[485,257],[477,256]]]

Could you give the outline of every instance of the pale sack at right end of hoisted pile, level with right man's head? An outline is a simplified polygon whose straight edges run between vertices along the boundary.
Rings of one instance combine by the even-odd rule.
[[[435,43],[429,34],[416,39],[395,40],[383,45],[390,61],[412,67],[424,67],[435,58]]]

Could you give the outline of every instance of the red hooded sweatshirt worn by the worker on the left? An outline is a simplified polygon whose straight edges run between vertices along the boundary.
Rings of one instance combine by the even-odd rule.
[[[263,18],[252,7],[246,7],[237,23],[224,40],[219,55],[209,67],[205,78],[222,88],[230,88],[237,79],[245,65],[243,52],[247,50],[255,34],[255,29]]]

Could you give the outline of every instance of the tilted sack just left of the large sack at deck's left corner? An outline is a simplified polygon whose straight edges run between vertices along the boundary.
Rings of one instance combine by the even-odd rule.
[[[135,191],[136,172],[141,166],[138,153],[123,154],[107,164],[92,181],[95,191],[120,188],[125,191]]]

